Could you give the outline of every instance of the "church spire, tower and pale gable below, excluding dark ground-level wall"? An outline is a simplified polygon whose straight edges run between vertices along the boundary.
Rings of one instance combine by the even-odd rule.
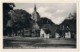
[[[34,21],[33,22],[33,29],[35,29],[35,30],[39,29],[37,22],[40,20],[40,15],[37,12],[36,4],[34,4],[34,11],[32,13],[31,19]]]

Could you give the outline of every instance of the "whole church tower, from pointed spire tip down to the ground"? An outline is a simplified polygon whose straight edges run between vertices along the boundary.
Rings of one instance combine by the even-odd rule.
[[[39,25],[37,24],[37,21],[40,20],[40,15],[39,13],[37,12],[37,8],[36,8],[36,4],[34,6],[34,11],[32,13],[32,17],[31,19],[34,21],[33,22],[33,26],[32,26],[32,36],[38,36],[39,35],[39,31],[40,31],[40,27]]]

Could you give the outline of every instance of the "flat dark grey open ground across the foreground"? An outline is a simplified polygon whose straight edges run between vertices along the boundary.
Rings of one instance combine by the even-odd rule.
[[[4,37],[4,48],[76,48],[73,39],[40,37]]]

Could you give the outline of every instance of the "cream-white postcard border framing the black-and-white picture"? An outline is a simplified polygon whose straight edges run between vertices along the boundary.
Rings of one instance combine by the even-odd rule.
[[[79,0],[0,0],[0,52],[78,52],[80,47],[80,32],[79,32],[79,14],[80,14],[80,1]],[[77,4],[77,48],[70,49],[60,49],[60,48],[50,48],[50,49],[3,49],[3,8],[2,3],[76,3]]]

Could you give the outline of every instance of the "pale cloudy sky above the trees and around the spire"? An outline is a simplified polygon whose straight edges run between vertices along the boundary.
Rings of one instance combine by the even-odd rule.
[[[14,9],[23,9],[32,14],[35,3],[15,3]],[[75,3],[36,3],[37,12],[47,17],[55,24],[61,24],[68,19],[69,14],[76,12]]]

